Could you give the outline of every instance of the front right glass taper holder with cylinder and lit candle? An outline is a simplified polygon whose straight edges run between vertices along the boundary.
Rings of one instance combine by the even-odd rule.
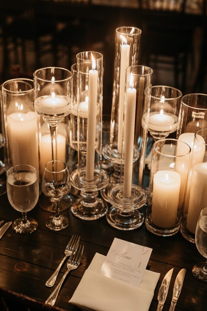
[[[152,69],[131,66],[126,69],[124,128],[121,154],[120,183],[108,191],[112,208],[106,219],[120,230],[132,230],[142,225],[144,216],[138,209],[146,203],[142,188],[145,165],[147,123],[141,122],[143,114],[149,117]],[[133,178],[133,159],[136,154],[137,167]]]

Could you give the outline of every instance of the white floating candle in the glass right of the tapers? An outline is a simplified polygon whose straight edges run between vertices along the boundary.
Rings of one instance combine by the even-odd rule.
[[[170,132],[176,129],[177,125],[178,122],[175,122],[175,118],[170,114],[164,114],[163,109],[160,110],[159,114],[150,113],[148,128],[151,131]]]

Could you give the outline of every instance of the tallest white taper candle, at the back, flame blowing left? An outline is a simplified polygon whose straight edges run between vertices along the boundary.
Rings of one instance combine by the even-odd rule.
[[[126,38],[122,38],[121,46],[121,63],[120,63],[120,79],[119,79],[119,120],[118,120],[118,146],[117,150],[121,153],[122,135],[123,135],[123,118],[124,118],[124,91],[125,91],[125,75],[126,68],[129,67],[130,45],[127,44]]]

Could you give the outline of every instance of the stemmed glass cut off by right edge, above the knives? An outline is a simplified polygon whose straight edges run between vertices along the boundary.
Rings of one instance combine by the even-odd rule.
[[[198,262],[192,268],[193,276],[207,283],[207,207],[200,212],[196,226],[196,247],[199,253],[206,258],[206,262]]]

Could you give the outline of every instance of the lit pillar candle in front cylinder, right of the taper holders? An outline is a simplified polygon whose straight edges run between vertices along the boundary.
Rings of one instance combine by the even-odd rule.
[[[180,175],[160,170],[153,177],[152,222],[160,228],[171,228],[177,220]]]

